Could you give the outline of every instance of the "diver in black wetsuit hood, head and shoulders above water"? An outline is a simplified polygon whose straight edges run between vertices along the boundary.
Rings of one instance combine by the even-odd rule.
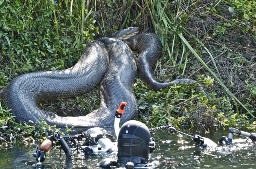
[[[148,168],[148,156],[155,150],[156,144],[145,124],[130,120],[120,128],[117,147],[117,161],[106,158],[101,162],[101,167],[109,168],[112,165],[125,168]]]

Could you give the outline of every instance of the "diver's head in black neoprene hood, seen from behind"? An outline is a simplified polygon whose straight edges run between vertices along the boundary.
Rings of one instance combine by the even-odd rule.
[[[127,121],[120,128],[117,140],[117,157],[141,157],[148,160],[148,155],[155,149],[154,138],[150,137],[148,127],[135,120]]]

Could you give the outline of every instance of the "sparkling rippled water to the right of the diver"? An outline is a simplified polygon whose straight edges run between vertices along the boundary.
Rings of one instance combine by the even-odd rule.
[[[252,131],[251,131],[252,132]],[[255,132],[255,131],[254,131]],[[193,133],[189,133],[193,135]],[[156,133],[155,137],[163,137],[166,134]],[[221,136],[227,136],[226,132],[215,132],[201,134],[203,137],[218,142]],[[158,140],[158,139],[156,139]],[[154,153],[161,156],[161,159],[177,161],[176,165],[168,166],[170,168],[255,168],[255,142],[247,140],[245,137],[234,135],[234,146],[220,146],[213,149],[202,149],[194,146],[193,140],[188,137],[171,137],[170,141],[159,141],[159,146]],[[167,152],[163,149],[168,150]],[[162,160],[164,161],[164,160]],[[178,166],[177,166],[178,164]],[[159,168],[165,168],[166,165],[159,165]]]

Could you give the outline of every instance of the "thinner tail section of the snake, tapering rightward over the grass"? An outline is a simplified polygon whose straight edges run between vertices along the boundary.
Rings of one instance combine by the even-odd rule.
[[[139,56],[136,61],[138,74],[149,89],[159,91],[160,89],[167,88],[171,86],[171,84],[175,83],[196,82],[192,79],[176,79],[169,83],[159,83],[155,80],[152,66],[156,63],[156,60],[160,59],[163,51],[162,44],[155,33],[140,33],[124,40],[124,42],[128,44],[133,51],[139,52]],[[199,83],[196,83],[196,85],[201,86]],[[203,87],[198,88],[207,96]]]

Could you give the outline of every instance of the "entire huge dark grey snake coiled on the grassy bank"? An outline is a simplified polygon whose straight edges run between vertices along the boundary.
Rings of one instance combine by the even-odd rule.
[[[138,106],[132,85],[137,68],[148,88],[159,90],[170,86],[169,83],[157,82],[153,76],[152,66],[162,53],[162,45],[156,34],[141,33],[133,36],[137,33],[137,27],[127,28],[91,41],[73,67],[20,75],[0,92],[0,97],[12,109],[18,123],[28,123],[29,120],[36,122],[40,117],[57,128],[108,128],[114,124],[114,114],[120,102],[127,102],[121,123],[134,119],[138,116]],[[131,49],[139,52],[137,63]],[[194,82],[178,79],[171,83],[185,81]],[[43,100],[84,94],[98,83],[100,108],[86,116],[62,117],[37,107],[37,103]]]

